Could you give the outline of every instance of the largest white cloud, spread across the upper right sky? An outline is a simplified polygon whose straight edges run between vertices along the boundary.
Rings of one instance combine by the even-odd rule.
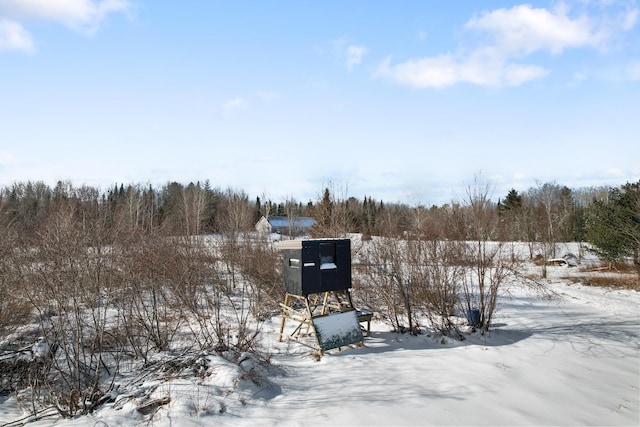
[[[586,14],[571,17],[560,3],[555,9],[530,5],[496,9],[471,18],[464,31],[477,42],[459,53],[411,58],[393,64],[382,61],[374,77],[385,77],[414,88],[442,88],[459,83],[508,87],[548,76],[551,70],[523,59],[536,52],[560,55],[572,48],[602,48],[612,32],[627,31],[637,21],[637,10],[616,20],[596,23]]]

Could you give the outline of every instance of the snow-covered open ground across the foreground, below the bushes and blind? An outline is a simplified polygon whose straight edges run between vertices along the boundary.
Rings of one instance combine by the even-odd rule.
[[[512,288],[494,329],[464,341],[373,321],[363,347],[318,361],[297,341],[278,342],[276,316],[262,332],[268,370],[208,356],[202,376],[141,379],[135,396],[89,416],[30,425],[638,426],[640,292],[571,284],[567,274],[549,267],[551,297]],[[141,413],[143,401],[157,403],[154,415]],[[15,397],[0,398],[0,425],[22,417]]]

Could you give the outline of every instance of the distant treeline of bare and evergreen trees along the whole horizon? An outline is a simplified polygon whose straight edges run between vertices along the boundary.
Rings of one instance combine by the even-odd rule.
[[[603,206],[626,204],[631,209],[609,213],[625,216],[632,227],[639,183],[619,188],[570,189],[544,183],[527,191],[514,189],[497,202],[489,199],[489,184],[477,182],[458,202],[441,206],[409,206],[341,194],[327,187],[318,200],[289,199],[273,202],[250,198],[244,191],[212,187],[208,181],[187,185],[171,182],[159,188],[141,184],[116,184],[105,190],[58,182],[53,188],[42,182],[17,182],[0,188],[0,225],[11,224],[30,235],[37,223],[47,221],[61,203],[78,214],[91,212],[107,227],[154,231],[165,235],[244,232],[253,229],[261,216],[313,217],[313,233],[338,236],[362,233],[365,237],[419,235],[429,239],[473,238],[473,193],[486,196],[492,223],[490,238],[496,241],[587,241],[594,239],[594,223],[604,215]],[[600,224],[598,227],[602,226]],[[589,228],[591,227],[591,229]],[[597,228],[597,227],[596,227]],[[600,239],[602,240],[602,239]]]

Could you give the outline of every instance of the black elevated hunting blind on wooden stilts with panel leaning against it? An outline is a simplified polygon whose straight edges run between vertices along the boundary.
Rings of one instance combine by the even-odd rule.
[[[307,333],[313,327],[320,354],[362,344],[359,322],[369,322],[372,314],[356,310],[351,301],[351,241],[288,240],[280,242],[280,250],[285,298],[279,340],[289,317],[299,322],[292,337],[305,325]]]

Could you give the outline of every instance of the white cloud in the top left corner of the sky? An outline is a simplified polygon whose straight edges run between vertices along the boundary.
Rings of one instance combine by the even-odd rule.
[[[87,35],[95,34],[112,13],[132,12],[128,0],[2,0],[0,1],[0,51],[34,52],[25,22],[54,22]]]

